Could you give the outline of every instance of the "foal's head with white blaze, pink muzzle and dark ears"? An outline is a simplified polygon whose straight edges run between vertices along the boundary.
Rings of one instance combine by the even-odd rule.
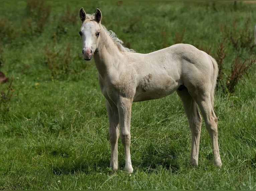
[[[97,9],[94,15],[86,14],[82,7],[79,12],[82,26],[80,36],[83,43],[83,56],[85,60],[91,60],[99,46],[101,11]]]

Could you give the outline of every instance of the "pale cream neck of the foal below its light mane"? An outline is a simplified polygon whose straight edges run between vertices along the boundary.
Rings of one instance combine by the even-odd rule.
[[[113,68],[117,68],[122,59],[122,52],[101,26],[98,51],[94,54],[94,61],[101,77],[105,78],[107,73],[113,71]]]

